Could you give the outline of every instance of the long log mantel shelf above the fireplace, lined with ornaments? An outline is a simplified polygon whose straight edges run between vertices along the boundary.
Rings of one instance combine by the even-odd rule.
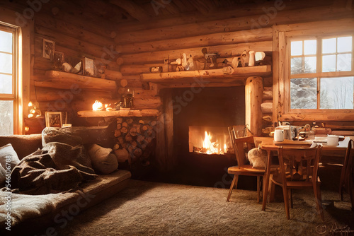
[[[215,79],[234,79],[247,78],[249,76],[270,76],[272,69],[270,65],[265,66],[249,66],[238,67],[232,69],[231,66],[223,69],[210,69],[200,71],[177,71],[163,73],[142,73],[140,78],[142,81],[154,83],[166,83],[166,81],[181,81],[183,83],[193,81],[193,78],[215,78]]]

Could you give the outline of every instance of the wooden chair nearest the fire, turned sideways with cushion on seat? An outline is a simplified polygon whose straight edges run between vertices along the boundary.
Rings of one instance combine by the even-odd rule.
[[[229,195],[227,196],[227,201],[230,200],[232,190],[237,188],[237,182],[239,180],[239,175],[248,175],[257,177],[257,202],[260,201],[260,189],[261,189],[261,176],[265,174],[265,168],[253,168],[252,165],[247,165],[246,151],[251,150],[255,147],[253,136],[246,137],[236,137],[239,134],[235,129],[235,126],[229,127],[229,134],[234,146],[235,155],[237,159],[237,166],[232,166],[227,169],[229,174],[234,175],[232,179],[232,184],[229,190]],[[246,150],[245,150],[246,149]]]

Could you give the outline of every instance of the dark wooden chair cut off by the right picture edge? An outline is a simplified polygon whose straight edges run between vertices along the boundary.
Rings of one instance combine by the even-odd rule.
[[[354,141],[349,140],[348,148],[346,151],[346,157],[341,171],[341,179],[339,180],[339,194],[341,195],[341,201],[343,201],[343,189],[348,191],[348,177],[350,175],[350,163],[353,163],[354,158]],[[350,162],[350,163],[349,163]]]

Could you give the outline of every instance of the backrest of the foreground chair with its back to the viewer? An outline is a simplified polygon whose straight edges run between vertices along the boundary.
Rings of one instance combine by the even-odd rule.
[[[280,147],[279,165],[283,182],[290,175],[292,181],[312,181],[317,180],[321,146],[316,143],[309,148]]]

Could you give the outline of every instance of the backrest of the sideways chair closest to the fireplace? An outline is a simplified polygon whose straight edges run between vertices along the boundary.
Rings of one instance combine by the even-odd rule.
[[[237,126],[229,127],[229,134],[234,147],[237,165],[242,167],[247,163],[246,153],[255,147],[254,138],[253,136],[237,137],[238,132],[235,127]]]

